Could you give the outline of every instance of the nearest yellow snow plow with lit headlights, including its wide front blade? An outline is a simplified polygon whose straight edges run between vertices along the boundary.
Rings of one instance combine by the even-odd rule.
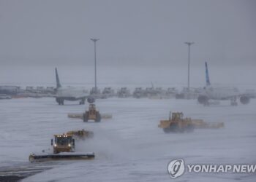
[[[67,160],[67,159],[94,159],[94,153],[77,153],[75,152],[75,139],[73,135],[54,135],[51,140],[53,146],[53,154],[30,154],[30,162],[44,162],[51,160]],[[42,151],[43,153],[45,151]]]

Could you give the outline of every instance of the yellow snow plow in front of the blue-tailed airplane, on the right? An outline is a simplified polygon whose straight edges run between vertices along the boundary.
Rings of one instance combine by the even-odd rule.
[[[161,120],[158,127],[164,132],[192,132],[194,129],[219,129],[224,127],[224,122],[208,123],[203,119],[184,119],[182,112],[173,112],[168,120]]]

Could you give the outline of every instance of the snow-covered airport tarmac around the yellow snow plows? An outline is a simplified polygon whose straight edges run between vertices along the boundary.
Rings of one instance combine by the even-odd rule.
[[[172,181],[167,164],[182,158],[186,164],[256,164],[256,100],[248,105],[204,107],[196,100],[109,98],[97,100],[102,113],[113,119],[84,123],[69,119],[86,106],[53,98],[0,100],[0,168],[38,167],[30,153],[50,149],[54,134],[69,130],[94,131],[94,138],[78,142],[77,151],[94,151],[89,161],[43,163],[51,169],[23,181]],[[225,122],[220,130],[165,134],[157,127],[169,111],[206,122]],[[175,181],[255,181],[248,173],[184,173]]]

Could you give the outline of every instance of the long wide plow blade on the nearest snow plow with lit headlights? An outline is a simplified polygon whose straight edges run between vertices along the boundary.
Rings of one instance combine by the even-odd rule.
[[[94,153],[89,154],[69,154],[65,152],[65,154],[30,154],[29,161],[30,162],[45,162],[45,161],[53,161],[53,160],[85,160],[85,159],[94,159]]]

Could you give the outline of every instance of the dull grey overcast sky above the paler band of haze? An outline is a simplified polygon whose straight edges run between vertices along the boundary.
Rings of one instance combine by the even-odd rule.
[[[1,65],[256,65],[256,1],[0,0]]]

